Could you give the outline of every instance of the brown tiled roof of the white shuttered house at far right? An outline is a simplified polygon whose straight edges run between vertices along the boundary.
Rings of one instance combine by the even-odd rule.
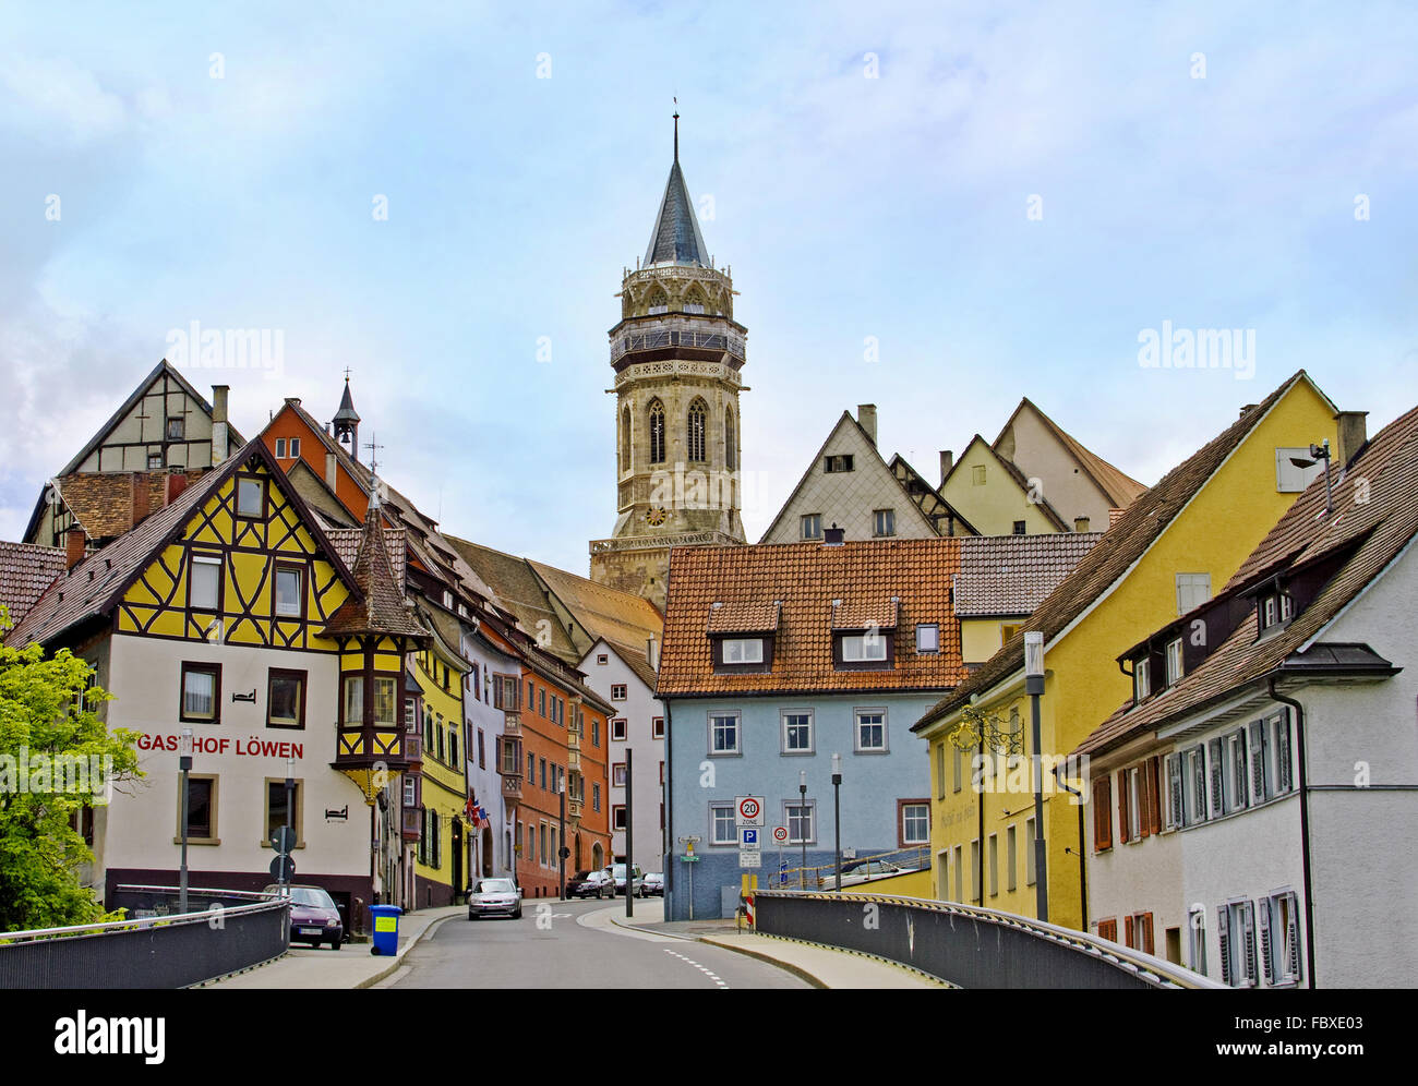
[[[1367,502],[1353,500],[1360,479],[1368,485]],[[1278,573],[1349,552],[1314,600],[1288,627],[1262,639],[1256,639],[1258,620],[1252,607],[1231,637],[1176,686],[1136,707],[1132,700],[1126,702],[1083,740],[1079,753],[1110,750],[1273,673],[1384,675],[1395,671],[1367,645],[1319,638],[1418,534],[1418,408],[1384,427],[1351,459],[1336,481],[1334,492],[1344,496],[1336,499],[1332,513],[1326,513],[1324,478],[1310,482],[1217,597],[1245,594],[1251,586]]]

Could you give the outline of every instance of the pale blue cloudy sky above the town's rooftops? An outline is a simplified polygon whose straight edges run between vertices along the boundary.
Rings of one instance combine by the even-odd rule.
[[[1374,432],[1418,404],[1415,54],[1384,3],[4,3],[0,539],[199,322],[279,333],[180,366],[241,432],[349,367],[389,482],[586,573],[675,99],[750,542],[862,403],[932,478],[1021,396],[1147,483],[1300,367]],[[1254,347],[1146,366],[1178,330]]]

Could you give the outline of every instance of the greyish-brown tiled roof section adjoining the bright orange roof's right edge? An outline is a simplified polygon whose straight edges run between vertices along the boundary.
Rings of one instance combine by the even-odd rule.
[[[1102,537],[1102,532],[964,536],[956,614],[960,618],[1034,614]]]

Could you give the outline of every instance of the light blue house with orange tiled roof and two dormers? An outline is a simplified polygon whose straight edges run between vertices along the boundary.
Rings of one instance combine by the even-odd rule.
[[[929,865],[930,766],[910,726],[966,675],[959,571],[954,537],[674,550],[666,919],[729,916],[740,876],[766,888],[780,862],[795,885],[804,852],[831,865],[834,754],[844,851]],[[739,797],[763,801],[756,869],[740,866]]]

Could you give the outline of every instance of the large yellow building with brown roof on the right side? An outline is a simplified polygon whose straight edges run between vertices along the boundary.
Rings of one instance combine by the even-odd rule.
[[[1289,508],[1309,481],[1290,457],[1310,442],[1333,444],[1336,414],[1309,376],[1296,373],[1137,498],[1025,624],[1045,638],[1051,922],[1085,924],[1081,808],[1066,791],[1051,790],[1051,764],[1130,696],[1117,655],[1210,598]],[[1024,686],[1021,631],[912,730],[930,744],[934,895],[1034,916],[1034,784],[1025,761],[1007,760],[1032,754]],[[967,740],[964,750],[957,739]],[[995,753],[1004,761],[977,761]],[[973,773],[986,767],[1004,771]]]

